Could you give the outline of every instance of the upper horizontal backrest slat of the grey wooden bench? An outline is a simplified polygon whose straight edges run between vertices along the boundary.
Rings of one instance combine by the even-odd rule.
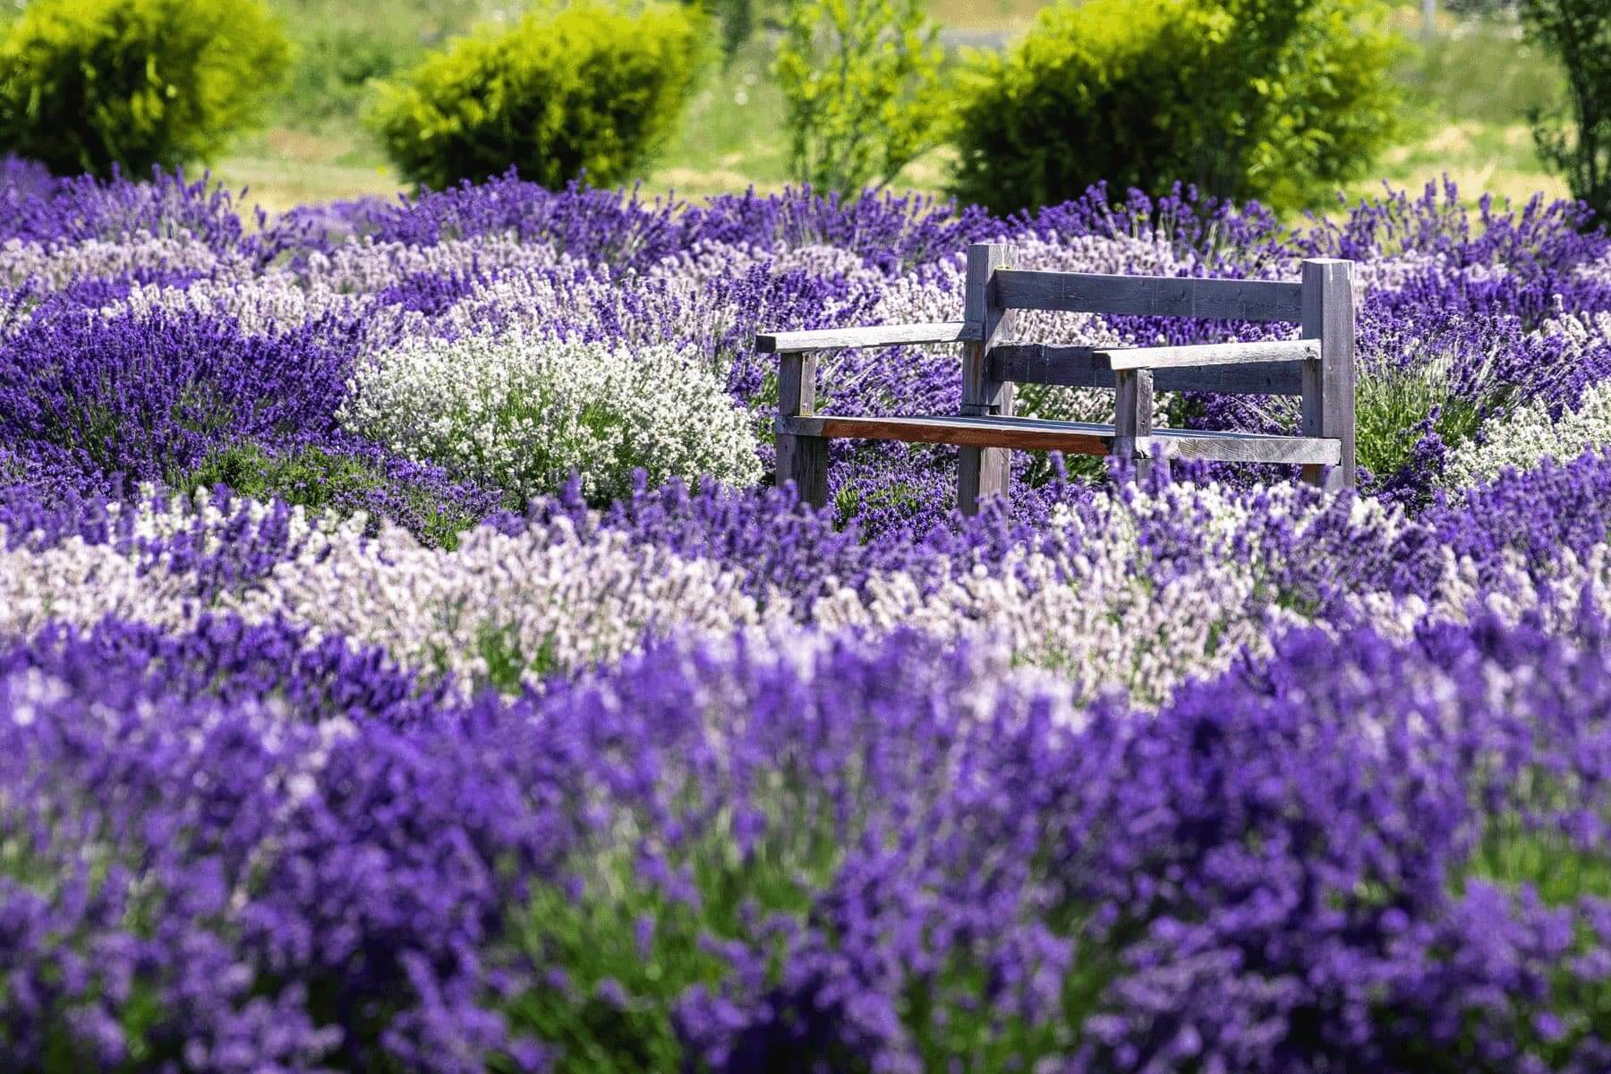
[[[996,287],[1002,304],[1010,309],[1213,320],[1297,322],[1303,317],[1302,285],[1281,280],[1203,280],[1018,269],[997,272]]]

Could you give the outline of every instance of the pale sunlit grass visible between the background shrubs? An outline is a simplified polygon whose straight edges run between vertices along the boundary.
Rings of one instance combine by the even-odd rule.
[[[367,81],[408,69],[448,37],[495,23],[499,11],[491,0],[271,3],[298,58],[275,93],[267,129],[243,138],[213,169],[226,187],[248,188],[248,206],[271,213],[396,193],[401,184],[361,122]],[[509,3],[504,21],[519,6]],[[934,14],[950,27],[1020,34],[1039,6],[1041,0],[936,0]],[[1521,42],[1514,26],[1445,19],[1439,39],[1423,48],[1416,3],[1406,0],[1394,21],[1411,42],[1395,71],[1408,95],[1410,134],[1374,163],[1371,179],[1345,193],[1371,196],[1384,180],[1419,188],[1448,176],[1469,201],[1482,193],[1524,200],[1540,190],[1564,196],[1566,184],[1543,169],[1527,127],[1529,109],[1559,98],[1556,66]],[[706,76],[680,130],[644,176],[646,192],[699,198],[788,182],[783,100],[768,64],[768,45],[757,35],[731,64]],[[896,185],[941,193],[947,172],[941,150],[909,166]]]

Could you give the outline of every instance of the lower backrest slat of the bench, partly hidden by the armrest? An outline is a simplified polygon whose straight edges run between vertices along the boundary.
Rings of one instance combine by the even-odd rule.
[[[991,372],[1023,385],[1113,388],[1113,370],[1095,348],[1054,343],[1005,343],[991,351]],[[1249,362],[1203,369],[1158,369],[1153,391],[1218,391],[1221,394],[1303,394],[1298,362]]]

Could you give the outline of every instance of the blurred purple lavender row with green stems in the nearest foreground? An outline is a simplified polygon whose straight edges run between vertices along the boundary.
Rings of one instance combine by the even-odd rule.
[[[1298,633],[1136,718],[912,633],[462,705],[282,626],[52,630],[0,657],[0,1032],[29,1069],[1597,1071],[1605,638]]]

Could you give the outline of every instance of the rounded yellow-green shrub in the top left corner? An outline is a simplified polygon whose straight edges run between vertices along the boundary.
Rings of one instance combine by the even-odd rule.
[[[206,161],[287,60],[258,0],[35,0],[0,40],[0,151],[56,174]]]

